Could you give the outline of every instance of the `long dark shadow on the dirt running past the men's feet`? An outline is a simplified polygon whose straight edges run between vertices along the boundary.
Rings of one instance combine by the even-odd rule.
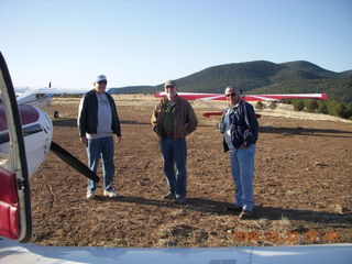
[[[111,201],[111,198],[96,196],[97,200]],[[240,212],[233,212],[227,209],[227,206],[231,206],[229,202],[215,201],[202,198],[187,198],[187,201],[183,205],[178,205],[175,201],[166,200],[154,200],[141,197],[120,196],[116,198],[117,202],[130,202],[138,205],[146,205],[154,207],[166,207],[175,209],[184,209],[189,211],[198,211],[212,213],[217,216],[239,216]],[[280,220],[283,218],[289,220],[304,220],[307,222],[318,223],[351,223],[352,213],[333,213],[333,212],[321,212],[311,210],[299,210],[299,209],[283,209],[274,207],[257,206],[254,210],[254,219],[268,219],[268,220]]]

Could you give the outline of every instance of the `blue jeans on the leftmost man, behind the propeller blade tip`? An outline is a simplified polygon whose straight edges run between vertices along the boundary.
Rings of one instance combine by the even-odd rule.
[[[103,172],[103,188],[106,190],[113,190],[112,180],[114,176],[113,165],[113,139],[112,136],[89,140],[87,145],[88,167],[97,173],[100,156],[102,158],[102,172]],[[96,191],[97,184],[91,179],[88,179],[88,191]]]

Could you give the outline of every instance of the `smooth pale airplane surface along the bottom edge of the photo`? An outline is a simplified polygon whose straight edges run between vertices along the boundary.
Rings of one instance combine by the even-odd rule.
[[[1,257],[2,256],[2,257]],[[193,264],[348,264],[352,244],[229,248],[44,246],[0,238],[0,264],[8,263],[193,263]]]

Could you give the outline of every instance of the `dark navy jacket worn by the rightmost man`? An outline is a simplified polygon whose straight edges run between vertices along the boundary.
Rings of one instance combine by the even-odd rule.
[[[222,114],[222,122],[229,108],[227,108]],[[256,143],[258,123],[252,105],[240,101],[239,106],[234,108],[232,112],[230,112],[230,130],[232,144],[235,148],[242,144],[250,145]],[[224,138],[223,148],[226,152],[229,151],[229,146]]]

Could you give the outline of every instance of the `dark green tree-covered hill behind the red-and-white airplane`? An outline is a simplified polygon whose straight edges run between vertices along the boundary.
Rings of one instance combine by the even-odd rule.
[[[326,92],[330,99],[352,102],[352,70],[334,73],[305,61],[224,64],[176,79],[179,91],[223,92],[234,86],[245,94]],[[163,85],[139,89],[155,92]]]

